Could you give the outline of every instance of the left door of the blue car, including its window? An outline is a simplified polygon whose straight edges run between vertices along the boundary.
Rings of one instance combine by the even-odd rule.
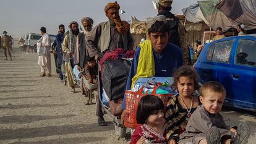
[[[200,61],[202,56],[199,56],[199,61],[195,68],[198,70],[198,74],[203,83],[207,81],[217,81],[222,83],[225,88],[229,88],[228,86],[231,84],[229,77],[229,61],[233,43],[234,40],[213,42],[213,44],[207,48],[206,54],[203,54],[205,60]]]

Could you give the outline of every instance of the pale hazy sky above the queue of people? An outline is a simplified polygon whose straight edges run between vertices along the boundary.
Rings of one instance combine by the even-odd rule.
[[[83,15],[94,20],[94,26],[108,20],[104,7],[107,0],[0,0],[0,32],[6,30],[8,35],[19,37],[25,33],[40,33],[40,27],[46,27],[50,34],[58,32],[59,24],[67,28],[69,22],[79,22]],[[158,1],[158,0],[155,0]],[[122,20],[130,20],[135,15],[145,20],[157,14],[150,0],[119,0],[117,1],[126,14]],[[182,14],[181,9],[197,3],[197,0],[174,0],[174,14]]]

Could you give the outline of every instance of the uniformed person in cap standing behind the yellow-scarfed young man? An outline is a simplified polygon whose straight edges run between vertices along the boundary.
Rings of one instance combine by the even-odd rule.
[[[158,15],[164,15],[170,28],[169,43],[175,44],[182,49],[183,64],[189,64],[189,50],[187,49],[186,29],[171,11],[173,0],[159,0]]]

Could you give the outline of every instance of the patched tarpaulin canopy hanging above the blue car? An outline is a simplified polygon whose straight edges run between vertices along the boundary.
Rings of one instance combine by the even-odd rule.
[[[182,9],[186,19],[193,23],[205,22],[213,30],[224,31],[244,24],[245,29],[256,28],[256,0],[208,0]]]

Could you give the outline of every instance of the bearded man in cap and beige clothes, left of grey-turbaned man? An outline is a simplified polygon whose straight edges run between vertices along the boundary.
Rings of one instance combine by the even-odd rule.
[[[74,83],[74,53],[77,35],[79,35],[79,24],[75,21],[69,23],[70,32],[67,34],[62,43],[62,51],[66,53],[65,57],[65,70],[67,75],[67,84],[70,87],[70,93],[75,93]]]

